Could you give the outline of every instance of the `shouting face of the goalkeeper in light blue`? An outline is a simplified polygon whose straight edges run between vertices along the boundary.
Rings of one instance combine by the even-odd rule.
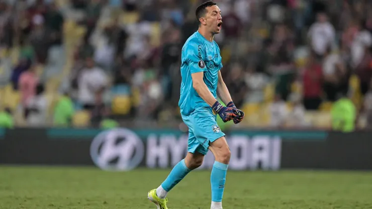
[[[219,34],[221,32],[222,26],[222,16],[220,8],[218,8],[217,5],[214,5],[212,7],[207,7],[206,10],[207,13],[204,18],[204,24],[211,33]]]

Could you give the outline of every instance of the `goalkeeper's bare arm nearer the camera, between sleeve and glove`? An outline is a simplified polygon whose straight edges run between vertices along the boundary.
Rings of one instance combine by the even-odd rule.
[[[198,92],[199,96],[204,99],[209,106],[213,106],[216,103],[217,99],[213,96],[208,86],[203,80],[204,72],[192,73],[191,77],[193,78],[193,87]]]

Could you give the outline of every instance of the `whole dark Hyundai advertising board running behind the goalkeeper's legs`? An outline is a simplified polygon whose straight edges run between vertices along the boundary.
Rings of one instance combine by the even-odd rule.
[[[234,131],[226,133],[229,169],[372,169],[369,132]],[[104,170],[169,168],[187,153],[178,130],[14,129],[0,138],[0,163],[95,165]],[[207,154],[200,169],[212,167]]]

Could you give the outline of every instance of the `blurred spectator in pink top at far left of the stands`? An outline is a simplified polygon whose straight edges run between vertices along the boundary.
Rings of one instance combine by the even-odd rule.
[[[19,90],[21,92],[21,104],[23,107],[27,107],[28,100],[36,94],[39,78],[35,71],[36,67],[33,65],[20,76]]]

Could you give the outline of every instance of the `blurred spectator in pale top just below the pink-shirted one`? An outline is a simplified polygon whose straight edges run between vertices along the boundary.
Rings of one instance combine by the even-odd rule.
[[[28,100],[25,107],[25,118],[28,126],[40,127],[47,124],[49,102],[44,94],[44,85],[38,84],[36,94]]]

